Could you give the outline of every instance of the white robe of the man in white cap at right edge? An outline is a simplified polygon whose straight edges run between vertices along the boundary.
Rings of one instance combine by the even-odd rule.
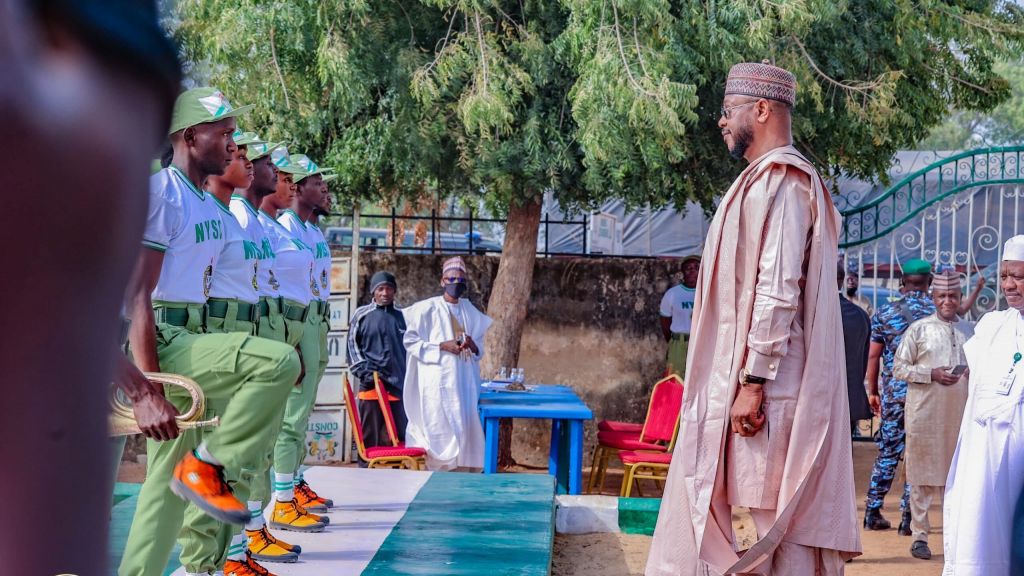
[[[1000,382],[1024,351],[1024,318],[992,312],[964,345],[971,367],[943,506],[943,576],[1007,576],[1014,505],[1024,488],[1024,360],[1009,392]]]

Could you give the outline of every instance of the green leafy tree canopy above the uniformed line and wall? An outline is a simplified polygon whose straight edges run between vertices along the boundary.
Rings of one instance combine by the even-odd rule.
[[[179,0],[173,19],[202,80],[256,105],[244,126],[336,167],[340,195],[499,212],[549,190],[710,207],[740,169],[726,73],[766,57],[798,77],[799,148],[884,174],[949,110],[1006,101],[1020,68],[996,63],[1024,39],[1007,0]]]

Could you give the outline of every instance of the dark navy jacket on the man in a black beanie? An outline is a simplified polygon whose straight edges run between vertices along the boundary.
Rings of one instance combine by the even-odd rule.
[[[374,372],[391,393],[406,381],[406,317],[394,305],[356,308],[348,326],[348,366],[359,389],[374,389]]]

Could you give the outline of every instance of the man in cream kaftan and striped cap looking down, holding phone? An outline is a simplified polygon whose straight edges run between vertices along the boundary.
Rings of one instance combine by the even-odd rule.
[[[932,280],[935,314],[907,328],[896,349],[893,375],[906,380],[906,480],[910,484],[910,553],[929,560],[928,508],[941,494],[956,449],[967,405],[964,343],[974,325],[959,320],[959,276],[945,272]]]

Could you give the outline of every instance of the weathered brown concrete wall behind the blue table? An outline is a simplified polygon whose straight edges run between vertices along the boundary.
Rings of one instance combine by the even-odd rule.
[[[471,280],[469,297],[485,311],[498,258],[463,258]],[[397,277],[399,306],[440,294],[444,259],[360,253],[359,303],[370,300],[370,277],[379,270]],[[598,420],[643,419],[650,388],[665,369],[667,344],[660,336],[658,304],[678,276],[677,260],[537,260],[519,365],[527,381],[571,385],[594,411],[594,421],[587,426],[588,459]],[[516,420],[513,457],[529,466],[546,466],[548,440],[547,426]]]

